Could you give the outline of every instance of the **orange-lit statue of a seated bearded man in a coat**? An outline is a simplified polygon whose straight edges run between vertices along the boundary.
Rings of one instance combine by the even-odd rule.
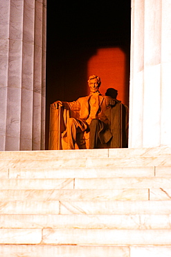
[[[78,113],[77,117],[70,115],[66,129],[62,133],[62,139],[66,142],[66,149],[75,149],[76,143],[79,149],[82,148],[80,147],[84,144],[80,137],[82,134],[84,134],[85,139],[88,139],[87,142],[89,143],[85,148],[89,149],[99,148],[99,145],[107,146],[114,137],[111,127],[113,123],[111,109],[120,104],[120,101],[112,99],[109,95],[100,94],[101,81],[99,76],[89,76],[88,85],[90,94],[87,97],[80,97],[72,102],[55,101],[51,104],[52,109],[62,106],[66,110]],[[118,121],[118,123],[120,122]],[[78,142],[79,140],[80,142]]]

